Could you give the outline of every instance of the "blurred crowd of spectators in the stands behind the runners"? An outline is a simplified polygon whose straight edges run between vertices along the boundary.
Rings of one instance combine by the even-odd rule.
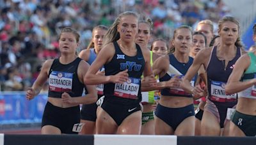
[[[170,39],[180,25],[195,26],[202,19],[218,22],[230,15],[221,0],[0,0],[0,80],[8,69],[8,90],[25,89],[45,59],[59,56],[57,36],[62,27],[72,26],[80,32],[83,50],[95,25],[109,26],[123,11],[152,18],[152,39]],[[15,73],[10,71],[13,67]]]

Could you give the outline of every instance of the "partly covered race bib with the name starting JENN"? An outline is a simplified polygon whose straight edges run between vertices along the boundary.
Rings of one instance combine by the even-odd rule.
[[[226,83],[221,81],[211,81],[211,96],[222,99],[236,99],[237,93],[227,95],[225,92]]]

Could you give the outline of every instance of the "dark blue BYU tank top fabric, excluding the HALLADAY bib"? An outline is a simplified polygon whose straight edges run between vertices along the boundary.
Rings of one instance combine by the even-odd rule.
[[[104,65],[105,68],[105,75],[115,75],[120,71],[124,71],[128,69],[129,78],[137,78],[140,79],[145,67],[145,60],[143,57],[143,53],[141,52],[141,48],[139,45],[136,45],[137,54],[133,57],[129,57],[125,55],[118,43],[113,42],[115,46],[115,55],[111,59],[108,64]],[[140,82],[137,82],[140,84]],[[111,99],[113,101],[117,101],[120,103],[134,103],[134,102],[141,102],[141,87],[138,90],[138,97],[136,99],[129,99],[124,97],[117,97],[114,93],[115,90],[115,83],[106,83],[104,84],[104,95],[105,99]]]

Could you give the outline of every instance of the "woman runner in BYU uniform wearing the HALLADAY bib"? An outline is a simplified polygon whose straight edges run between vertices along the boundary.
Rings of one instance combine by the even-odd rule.
[[[104,98],[97,102],[100,106],[97,134],[140,134],[140,78],[143,74],[152,83],[156,79],[150,67],[149,50],[134,43],[137,33],[138,15],[131,11],[121,13],[109,28],[104,48],[86,74],[87,84],[104,83]],[[105,76],[97,75],[103,65]]]

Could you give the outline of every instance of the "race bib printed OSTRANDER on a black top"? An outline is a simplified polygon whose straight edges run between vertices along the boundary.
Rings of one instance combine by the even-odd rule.
[[[73,73],[52,71],[49,76],[49,90],[53,92],[71,92]]]

